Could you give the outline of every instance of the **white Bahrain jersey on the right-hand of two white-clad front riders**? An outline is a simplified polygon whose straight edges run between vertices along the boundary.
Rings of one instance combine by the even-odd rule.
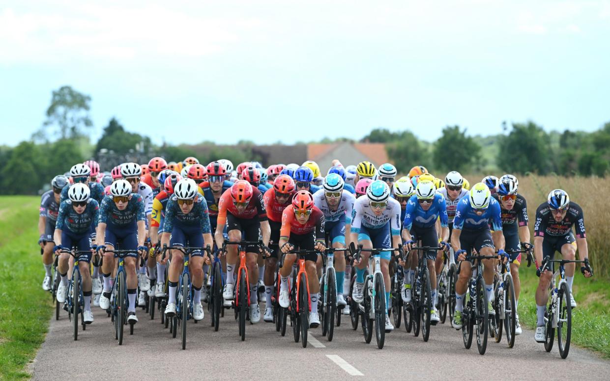
[[[359,233],[362,226],[368,229],[379,229],[390,223],[390,233],[400,235],[400,203],[393,198],[387,200],[386,209],[381,215],[375,215],[371,210],[367,196],[356,199],[351,219],[351,232]]]

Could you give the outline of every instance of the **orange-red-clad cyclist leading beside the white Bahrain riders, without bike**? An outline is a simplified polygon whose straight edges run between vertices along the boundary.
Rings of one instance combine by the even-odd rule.
[[[314,205],[314,197],[308,191],[298,191],[292,198],[292,205],[287,206],[282,212],[282,229],[279,238],[284,256],[284,263],[279,269],[279,305],[287,308],[290,305],[288,277],[295,263],[296,254],[286,254],[295,247],[301,250],[324,251],[324,215]],[[316,328],[320,325],[318,316],[318,293],[320,292],[320,280],[318,279],[315,262],[317,254],[305,255],[305,271],[307,272],[307,283],[309,285],[309,301],[311,311],[309,312],[309,327]],[[303,285],[304,287],[304,285]]]

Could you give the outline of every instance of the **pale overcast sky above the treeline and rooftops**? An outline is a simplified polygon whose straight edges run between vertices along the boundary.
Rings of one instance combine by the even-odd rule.
[[[62,85],[91,96],[94,139],[112,116],[156,143],[610,121],[610,1],[35,4],[0,0],[4,144]]]

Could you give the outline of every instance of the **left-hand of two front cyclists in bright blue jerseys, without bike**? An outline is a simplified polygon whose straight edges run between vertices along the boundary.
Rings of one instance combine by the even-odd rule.
[[[406,213],[403,222],[403,240],[405,242],[404,249],[408,252],[412,246],[415,246],[417,241],[421,241],[422,246],[434,247],[422,255],[425,255],[428,261],[428,271],[430,274],[430,296],[432,302],[432,311],[430,312],[430,322],[435,325],[440,321],[439,313],[436,310],[436,256],[437,256],[437,243],[438,233],[436,232],[436,220],[440,218],[441,227],[441,242],[443,247],[447,249],[447,240],[449,238],[448,218],[447,218],[447,206],[445,204],[445,198],[439,193],[436,193],[436,187],[434,183],[429,180],[423,180],[417,183],[415,188],[415,195],[411,196],[407,202]],[[411,256],[411,271],[417,266],[417,257]],[[406,263],[404,263],[406,265]],[[409,269],[404,268],[404,272]],[[410,277],[409,277],[410,278]],[[407,279],[407,277],[403,277]],[[411,288],[409,283],[404,281],[403,293],[401,294],[404,302],[411,301]],[[410,279],[409,279],[410,282]]]

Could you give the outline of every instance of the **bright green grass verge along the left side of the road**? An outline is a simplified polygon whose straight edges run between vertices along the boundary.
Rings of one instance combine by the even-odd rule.
[[[0,379],[29,379],[27,364],[45,340],[51,297],[40,288],[44,270],[36,196],[0,198]]]

